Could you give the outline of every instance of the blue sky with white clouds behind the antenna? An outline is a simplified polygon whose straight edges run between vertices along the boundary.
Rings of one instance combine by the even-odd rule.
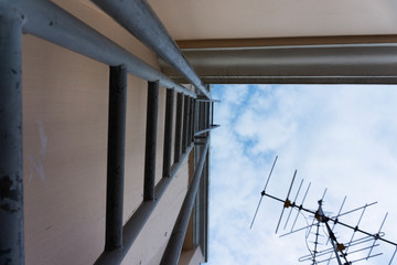
[[[275,234],[282,203],[264,198],[249,229],[276,156],[268,193],[286,199],[298,169],[292,200],[304,179],[297,201],[301,202],[311,182],[308,209],[318,208],[325,188],[323,208],[330,215],[337,213],[345,195],[342,212],[377,202],[365,210],[360,229],[376,233],[388,212],[383,232],[385,239],[397,242],[396,86],[217,85],[213,97],[222,100],[215,108],[215,123],[222,127],[212,134],[208,264],[311,264],[298,258],[309,254],[307,245],[313,247],[312,234],[307,239],[304,230],[279,237],[291,230],[296,212],[283,230],[286,210]],[[355,226],[362,212],[340,221]],[[296,227],[305,222],[311,223],[310,215],[300,214]],[[343,243],[353,234],[337,226],[335,232]],[[354,240],[362,237],[354,235]],[[383,256],[358,264],[388,264],[394,250],[382,243],[373,254]]]

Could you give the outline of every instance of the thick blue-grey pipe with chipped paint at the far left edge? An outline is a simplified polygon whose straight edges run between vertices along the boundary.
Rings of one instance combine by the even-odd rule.
[[[22,13],[0,1],[0,264],[24,264]]]

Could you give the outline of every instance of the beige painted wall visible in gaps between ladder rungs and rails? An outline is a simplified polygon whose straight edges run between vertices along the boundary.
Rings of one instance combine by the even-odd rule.
[[[86,1],[55,1],[159,68],[154,54]],[[26,265],[93,264],[104,250],[107,65],[23,36]],[[125,222],[142,200],[147,82],[128,76]],[[157,178],[162,174],[165,91],[160,87]],[[187,159],[125,264],[157,264],[187,187]]]

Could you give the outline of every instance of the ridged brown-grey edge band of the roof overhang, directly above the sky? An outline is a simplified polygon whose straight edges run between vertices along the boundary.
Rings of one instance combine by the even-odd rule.
[[[396,84],[397,35],[176,42],[208,84]],[[160,60],[162,71],[185,82]]]

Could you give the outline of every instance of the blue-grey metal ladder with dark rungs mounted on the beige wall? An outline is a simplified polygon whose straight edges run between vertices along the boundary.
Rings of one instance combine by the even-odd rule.
[[[95,1],[114,17],[119,14],[112,10],[111,1]],[[105,6],[109,4],[109,7]],[[149,45],[159,56],[167,60],[178,71],[183,73],[193,85],[212,100],[210,92],[184,60],[175,43],[168,35],[164,26],[152,12],[146,1],[130,1],[135,8],[142,11],[146,24],[141,29],[130,26],[131,19],[121,24],[128,26],[135,35]],[[131,6],[132,7],[132,6]],[[122,10],[131,7],[118,7]],[[138,10],[138,12],[140,12]],[[126,11],[126,10],[124,10]],[[135,12],[137,10],[128,10]],[[124,13],[126,15],[126,13]],[[122,18],[120,15],[119,18]],[[129,18],[133,15],[129,14]],[[140,20],[140,18],[136,18]],[[119,21],[119,20],[117,20]],[[119,21],[120,22],[120,21]],[[159,39],[150,40],[153,32]],[[149,34],[147,34],[148,32]],[[160,198],[165,192],[172,178],[191,152],[194,142],[195,130],[195,98],[197,95],[174,83],[171,78],[139,60],[114,41],[88,26],[74,15],[47,0],[0,0],[0,264],[24,264],[23,243],[23,184],[22,184],[22,33],[30,33],[67,50],[77,52],[98,62],[110,66],[110,96],[109,96],[109,134],[108,134],[108,177],[107,177],[107,219],[105,251],[96,264],[118,264],[122,261],[128,250],[138,236],[151,212],[157,206]],[[165,47],[155,45],[165,43]],[[178,104],[182,104],[185,110],[176,112],[175,131],[175,157],[171,165],[170,146],[172,145],[172,118],[165,117],[167,140],[164,140],[164,166],[165,173],[154,187],[153,172],[146,172],[144,188],[146,199],[135,212],[131,219],[122,225],[122,187],[124,171],[115,172],[115,169],[124,167],[125,126],[126,126],[126,96],[125,94],[111,94],[115,87],[126,88],[127,72],[148,81],[148,89],[159,89],[159,86],[168,88],[167,116],[172,116],[173,106],[171,97],[178,93]],[[171,96],[172,94],[172,96]],[[180,99],[181,98],[181,99]],[[148,120],[157,119],[158,114],[153,105],[158,104],[158,96],[148,100],[148,107],[154,113],[149,114]],[[149,113],[149,112],[148,112]],[[178,127],[180,126],[180,127]],[[157,123],[147,124],[149,134],[157,131]],[[154,134],[155,135],[155,134]],[[147,137],[153,140],[153,137]],[[167,145],[167,147],[165,147]],[[181,148],[182,147],[182,148]],[[147,144],[147,152],[155,153],[155,142]],[[146,158],[149,163],[148,171],[155,162],[155,156]],[[109,165],[110,162],[110,165]],[[150,166],[151,165],[151,166]],[[146,171],[147,171],[146,170]]]

